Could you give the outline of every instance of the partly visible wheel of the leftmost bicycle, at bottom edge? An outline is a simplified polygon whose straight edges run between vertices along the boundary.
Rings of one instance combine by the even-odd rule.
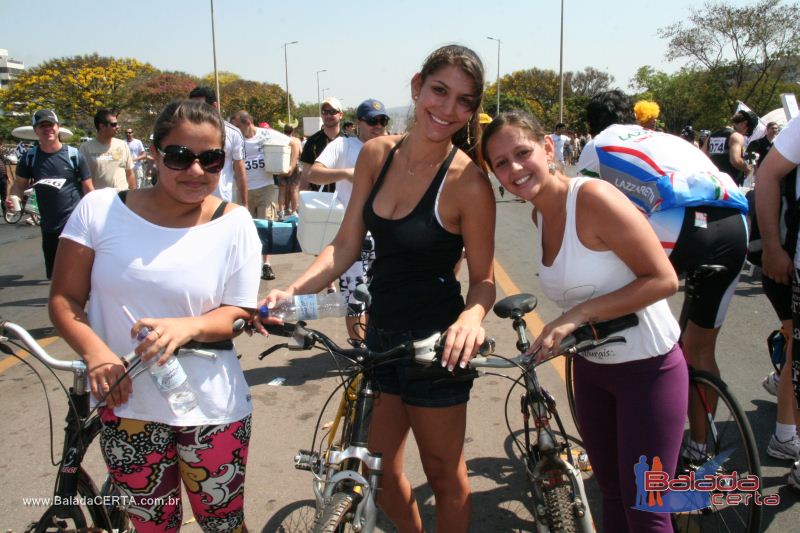
[[[112,524],[102,498],[89,475],[78,475],[77,502],[73,505],[53,505],[42,517],[30,524],[26,533],[69,533],[74,531],[112,531]],[[125,517],[127,523],[127,516]],[[118,531],[127,529],[117,528]]]

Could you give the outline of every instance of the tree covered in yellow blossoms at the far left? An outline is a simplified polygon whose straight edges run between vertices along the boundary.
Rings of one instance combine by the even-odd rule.
[[[21,73],[0,94],[6,111],[32,113],[53,108],[65,122],[88,125],[101,108],[115,113],[127,107],[127,83],[155,68],[136,59],[97,54],[51,59]]]

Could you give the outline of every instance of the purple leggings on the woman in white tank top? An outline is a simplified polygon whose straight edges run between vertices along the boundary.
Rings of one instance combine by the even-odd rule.
[[[672,533],[670,515],[633,509],[634,465],[659,456],[672,477],[689,398],[689,373],[675,345],[658,357],[620,364],[575,358],[581,436],[603,493],[603,531]]]

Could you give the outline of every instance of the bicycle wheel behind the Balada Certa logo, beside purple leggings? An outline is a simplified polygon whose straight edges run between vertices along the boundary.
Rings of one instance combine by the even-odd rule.
[[[701,432],[705,434],[705,442],[698,446],[691,441],[692,429],[687,418],[677,474],[695,472],[696,478],[701,479],[709,474],[736,473],[739,479],[757,476],[760,480],[761,464],[753,431],[728,386],[708,372],[692,369],[689,374],[689,391],[693,400],[703,406],[705,411],[704,431]],[[699,449],[703,446],[704,451]],[[696,510],[673,512],[672,523],[675,531],[757,533],[761,526],[761,507],[754,501],[752,493],[738,491],[735,493],[746,494],[750,498],[736,504],[734,500],[727,499],[728,494],[734,494],[731,491],[693,495],[683,493],[688,498],[695,498],[685,504],[686,507],[694,507]],[[669,496],[675,494],[673,492]],[[761,496],[760,488],[758,496]],[[676,509],[676,505],[680,507],[677,500],[672,508]]]

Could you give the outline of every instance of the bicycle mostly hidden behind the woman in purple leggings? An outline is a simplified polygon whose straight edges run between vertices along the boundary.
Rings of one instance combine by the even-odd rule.
[[[704,278],[722,272],[724,268],[719,265],[702,265],[689,272],[686,276],[686,298],[696,298],[698,283]],[[681,316],[679,320],[681,331],[685,328],[687,320],[685,315]],[[567,400],[575,428],[580,434],[575,415],[572,378],[573,365],[571,359],[567,358],[565,364]],[[753,430],[739,402],[725,382],[709,372],[697,370],[690,365],[689,394],[689,413],[684,426],[683,444],[676,474],[693,472],[705,476],[736,473],[740,479],[751,475],[760,479],[761,463]],[[697,449],[692,442],[701,443],[701,449]],[[718,460],[722,463],[716,465]],[[709,472],[708,469],[712,466],[713,472]],[[760,487],[756,492],[758,496],[762,495]],[[676,531],[757,533],[761,527],[761,507],[755,496],[743,505],[727,503],[714,505],[712,500],[700,509],[672,513],[672,522]]]

